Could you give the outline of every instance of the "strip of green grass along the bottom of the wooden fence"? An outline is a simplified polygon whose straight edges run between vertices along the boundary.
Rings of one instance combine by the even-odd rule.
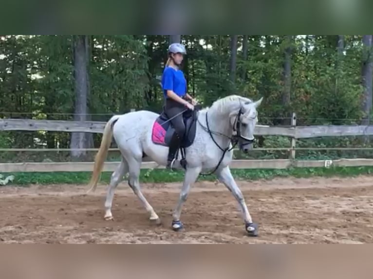
[[[15,179],[8,185],[23,185],[30,184],[87,184],[91,173],[87,172],[56,172],[56,173],[4,173],[7,175],[13,174]],[[104,172],[101,176],[101,182],[109,183],[111,172]],[[373,167],[331,167],[331,168],[290,168],[290,169],[236,169],[232,170],[232,174],[237,180],[258,180],[272,179],[275,177],[331,177],[331,176],[357,176],[361,174],[373,174]],[[181,182],[184,177],[184,172],[169,172],[167,170],[154,170],[148,172],[141,170],[140,182],[162,183],[162,182]],[[200,176],[201,180],[213,181],[215,175]]]

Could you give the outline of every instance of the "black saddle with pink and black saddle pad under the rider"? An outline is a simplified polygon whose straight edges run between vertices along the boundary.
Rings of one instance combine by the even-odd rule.
[[[186,148],[192,145],[196,137],[198,111],[201,110],[201,108],[201,105],[195,105],[193,111],[188,109],[183,113],[186,131],[181,140],[180,148]],[[174,133],[175,129],[173,128],[171,121],[169,121],[169,117],[165,112],[165,107],[163,107],[162,113],[154,121],[151,140],[154,144],[169,147]]]

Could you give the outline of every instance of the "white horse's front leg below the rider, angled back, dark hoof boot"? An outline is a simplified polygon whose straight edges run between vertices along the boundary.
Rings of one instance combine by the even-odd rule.
[[[175,231],[179,231],[183,228],[183,223],[180,221],[181,210],[182,210],[183,204],[186,202],[186,199],[188,197],[188,194],[190,191],[190,184],[194,183],[197,180],[198,175],[200,174],[201,170],[202,170],[201,167],[186,169],[183,187],[181,188],[181,192],[179,196],[179,201],[173,212],[172,229]]]

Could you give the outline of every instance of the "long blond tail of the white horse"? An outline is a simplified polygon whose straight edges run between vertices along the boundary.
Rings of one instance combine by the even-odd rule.
[[[96,190],[97,182],[101,176],[101,171],[105,162],[105,158],[108,155],[108,149],[110,147],[110,144],[112,143],[112,128],[115,124],[115,122],[119,119],[118,115],[114,115],[105,125],[104,133],[102,135],[101,145],[100,149],[98,150],[95,158],[94,158],[94,165],[93,165],[93,174],[91,177],[91,181],[88,184],[91,186],[90,190],[88,190],[87,193],[91,191]]]

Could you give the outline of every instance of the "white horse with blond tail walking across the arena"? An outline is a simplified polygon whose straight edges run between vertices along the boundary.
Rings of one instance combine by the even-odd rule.
[[[242,192],[228,165],[233,157],[232,143],[234,145],[239,143],[240,150],[244,152],[248,152],[252,148],[254,129],[258,122],[257,107],[261,104],[262,99],[253,102],[248,98],[230,95],[215,101],[211,107],[192,112],[196,121],[191,120],[193,117],[188,118],[187,129],[189,127],[190,132],[186,132],[186,137],[189,138],[184,141],[183,159],[174,163],[176,168],[185,169],[185,177],[178,203],[173,212],[173,230],[179,231],[183,228],[180,215],[190,185],[196,181],[202,171],[212,170],[211,173],[216,174],[219,181],[236,198],[243,213],[245,230],[248,235],[258,235],[258,225],[253,223]],[[163,115],[163,121],[160,121],[159,117],[160,115],[154,112],[141,110],[113,116],[107,122],[100,149],[95,157],[93,174],[89,184],[91,188],[88,191],[94,191],[96,188],[113,136],[122,158],[112,174],[107,190],[104,217],[106,220],[113,220],[111,209],[115,188],[123,176],[129,174],[128,183],[148,211],[150,220],[157,224],[161,223],[157,213],[141,192],[139,184],[143,157],[150,157],[161,166],[167,164],[167,139],[170,138],[173,128],[172,126],[164,128],[163,136],[167,131],[166,140],[161,135],[163,141],[160,142],[156,135],[160,131],[156,131],[156,129],[169,124],[169,120],[165,121],[167,120],[165,115]]]

